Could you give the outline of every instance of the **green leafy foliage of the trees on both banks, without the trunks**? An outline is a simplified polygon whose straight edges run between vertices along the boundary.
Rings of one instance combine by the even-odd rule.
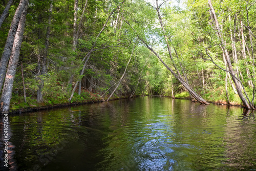
[[[51,2],[52,12],[50,12]],[[180,74],[184,80],[187,77],[190,87],[198,94],[209,101],[226,101],[226,72],[209,61],[210,58],[205,51],[208,48],[208,54],[212,60],[221,68],[227,69],[219,46],[220,40],[215,28],[212,27],[214,23],[209,19],[207,2],[187,0],[184,3],[184,6],[179,7],[174,3],[165,2],[159,8],[165,30],[163,32],[157,11],[152,7],[154,4],[150,5],[141,0],[124,2],[124,4],[116,1],[88,1],[88,6],[82,16],[84,3],[79,2],[77,25],[81,19],[82,25],[78,31],[77,46],[74,50],[72,46],[74,0],[31,0],[13,87],[12,108],[67,103],[74,84],[80,79],[82,93],[81,96],[75,93],[71,100],[72,103],[97,101],[100,99],[99,96],[106,91],[108,92],[105,95],[108,96],[114,91],[117,86],[115,83],[123,75],[135,44],[131,62],[113,97],[118,98],[121,94],[129,96],[134,91],[135,95],[170,96],[173,92],[177,98],[189,97],[179,80],[144,46],[144,42],[140,41],[138,36],[153,48],[176,74]],[[254,81],[255,66],[253,63],[255,61],[252,59],[251,42],[246,28],[244,28],[244,35],[248,49],[246,48],[245,52],[246,58],[242,55],[241,21],[246,26],[249,23],[254,32],[256,8],[252,5],[252,1],[231,0],[212,1],[212,3],[222,27],[222,35],[226,41],[233,70],[239,70],[240,79],[251,99],[252,88],[248,81]],[[0,12],[2,12],[4,6],[0,5]],[[9,16],[0,30],[0,54],[3,52],[17,5],[18,2],[15,2],[11,7]],[[114,9],[116,9],[114,13],[109,16]],[[105,25],[107,19],[109,21]],[[49,35],[47,35],[47,30],[49,30]],[[238,63],[231,55],[233,49],[230,33],[236,33],[233,38]],[[49,47],[46,46],[48,36]],[[165,36],[171,49],[171,57],[167,50]],[[255,42],[252,41],[252,47],[254,46]],[[84,66],[87,60],[85,57],[92,49],[90,58]],[[22,98],[23,83],[20,63],[24,66],[25,87],[28,94],[26,104]],[[46,73],[41,74],[44,66]],[[81,75],[83,66],[84,73]],[[240,103],[240,99],[231,88],[230,76],[227,82],[229,100]],[[41,88],[43,101],[37,104],[35,99],[40,86],[43,87]]]

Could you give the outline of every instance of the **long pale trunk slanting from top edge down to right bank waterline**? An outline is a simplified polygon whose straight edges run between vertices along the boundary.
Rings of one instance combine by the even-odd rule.
[[[225,42],[224,42],[224,40],[222,38],[221,30],[220,30],[220,27],[219,27],[219,22],[217,20],[216,14],[215,14],[214,7],[212,7],[212,5],[211,5],[211,0],[208,0],[208,4],[209,4],[209,7],[210,7],[210,14],[214,18],[214,22],[215,22],[215,26],[216,26],[216,30],[217,30],[217,35],[218,35],[218,37],[219,37],[219,39],[221,41],[221,47],[223,49],[223,53],[225,54],[225,59],[226,59],[226,62],[227,62],[227,66],[228,66],[229,72],[231,73],[231,76],[232,76],[232,79],[234,81],[234,84],[236,86],[238,95],[239,95],[240,99],[242,100],[244,107],[247,108],[247,109],[251,109],[251,104],[249,104],[250,102],[248,103],[248,101],[244,97],[244,95],[243,95],[243,93],[242,93],[242,91],[241,91],[241,89],[239,87],[239,82],[234,77],[234,71],[233,71],[233,68],[232,68],[232,65],[231,65],[230,57],[228,55],[228,52],[227,52],[227,49],[226,49],[226,46],[225,46]]]

